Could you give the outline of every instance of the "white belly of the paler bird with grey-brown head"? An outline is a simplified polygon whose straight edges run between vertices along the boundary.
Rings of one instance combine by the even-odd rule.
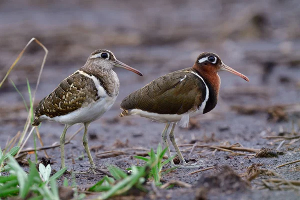
[[[95,101],[94,103],[90,103],[85,107],[80,107],[79,109],[62,115],[55,116],[53,118],[48,118],[52,121],[57,121],[63,124],[75,124],[75,123],[84,123],[91,122],[102,116],[107,110],[109,110],[114,103],[116,96],[110,97],[105,96]]]

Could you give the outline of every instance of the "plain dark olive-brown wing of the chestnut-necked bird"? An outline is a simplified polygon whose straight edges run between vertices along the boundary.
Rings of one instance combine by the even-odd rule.
[[[182,114],[198,108],[205,98],[205,84],[191,70],[178,70],[153,80],[125,97],[121,108],[159,114]]]

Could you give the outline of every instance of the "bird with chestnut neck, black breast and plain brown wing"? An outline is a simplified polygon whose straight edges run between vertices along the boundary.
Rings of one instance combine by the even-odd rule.
[[[187,127],[189,117],[205,114],[215,107],[220,88],[220,70],[229,71],[249,81],[245,75],[225,65],[217,54],[202,52],[192,67],[160,76],[126,96],[120,104],[123,110],[120,117],[139,115],[165,123],[161,135],[168,148],[168,157],[171,157],[171,153],[166,133],[171,124],[169,138],[180,160],[178,167],[184,168],[187,163],[175,141],[175,125],[178,123],[181,127]],[[175,166],[173,160],[171,165]]]

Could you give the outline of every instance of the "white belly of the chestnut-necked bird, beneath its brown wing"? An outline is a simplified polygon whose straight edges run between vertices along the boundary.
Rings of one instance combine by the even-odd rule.
[[[140,109],[131,109],[128,115],[139,115],[151,119],[153,121],[166,123],[166,122],[176,122],[179,121],[183,114],[158,114],[154,112],[147,112]]]

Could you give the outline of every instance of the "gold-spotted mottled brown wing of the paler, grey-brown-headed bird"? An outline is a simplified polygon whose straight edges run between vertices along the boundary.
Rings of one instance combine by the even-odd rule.
[[[61,83],[35,109],[34,123],[38,117],[46,115],[50,118],[74,111],[87,103],[97,100],[97,89],[91,78],[78,71],[61,81]]]

